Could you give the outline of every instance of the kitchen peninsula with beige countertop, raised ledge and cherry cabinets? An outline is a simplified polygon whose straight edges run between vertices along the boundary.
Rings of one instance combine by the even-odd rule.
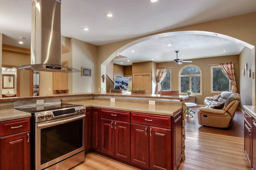
[[[184,100],[186,98],[188,96],[84,93],[16,98],[11,101],[2,99],[2,102],[13,104],[14,107],[24,105],[24,103],[35,104],[36,100],[42,99],[45,103],[62,102],[85,105],[85,133],[87,133],[85,145],[87,145],[88,152],[99,152],[139,168],[178,169],[181,161],[185,159],[184,117],[186,117],[186,106]],[[149,101],[154,101],[155,105],[149,105]],[[120,114],[126,114],[126,118],[120,119]],[[0,118],[1,115],[0,111]],[[112,115],[117,116],[113,117]],[[19,118],[13,116],[13,119]],[[4,119],[6,120],[6,117]],[[112,128],[119,129],[119,133]],[[141,138],[142,134],[146,134],[146,138]],[[114,139],[117,138],[120,140],[115,141]],[[133,143],[136,140],[144,140],[148,146],[146,143]],[[124,145],[124,141],[129,141],[129,143]],[[97,146],[94,145],[94,142]],[[145,152],[145,150],[148,152],[143,161],[134,152],[134,150],[142,149],[142,146],[148,147],[148,149],[141,150],[141,152]],[[116,149],[112,153],[112,148],[122,149],[117,150],[119,152],[115,154]],[[123,148],[129,150],[128,156],[125,155]],[[164,157],[160,157],[158,153],[152,154],[157,151]],[[141,162],[143,163],[140,164]],[[155,164],[151,165],[152,162]],[[144,166],[144,164],[146,165]]]

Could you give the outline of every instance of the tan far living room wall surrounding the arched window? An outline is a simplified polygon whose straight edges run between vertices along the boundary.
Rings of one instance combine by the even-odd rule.
[[[176,64],[173,62],[164,62],[158,63],[158,67],[172,67],[172,90],[179,90],[179,71],[186,65],[195,65],[200,68],[202,71],[202,96],[196,96],[196,104],[203,105],[204,98],[206,96],[214,96],[216,94],[211,93],[211,66],[208,64],[219,64],[219,63],[228,63],[234,62],[235,68],[235,76],[236,76],[236,83],[239,93],[240,87],[240,70],[239,70],[239,56],[238,55],[231,55],[231,56],[222,56],[222,57],[211,57],[211,58],[203,58],[203,59],[194,59],[191,60],[192,63],[183,63],[183,64]]]

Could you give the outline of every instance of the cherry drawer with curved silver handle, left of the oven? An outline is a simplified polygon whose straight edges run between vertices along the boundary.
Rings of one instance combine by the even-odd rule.
[[[0,122],[0,137],[30,131],[30,118]]]

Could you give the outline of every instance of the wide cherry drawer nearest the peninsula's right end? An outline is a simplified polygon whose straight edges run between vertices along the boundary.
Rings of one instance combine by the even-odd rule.
[[[131,122],[171,129],[171,117],[131,112]]]

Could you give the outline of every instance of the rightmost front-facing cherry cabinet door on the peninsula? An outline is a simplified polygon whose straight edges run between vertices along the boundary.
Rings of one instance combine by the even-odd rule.
[[[152,170],[171,170],[171,129],[150,126],[149,167]]]

